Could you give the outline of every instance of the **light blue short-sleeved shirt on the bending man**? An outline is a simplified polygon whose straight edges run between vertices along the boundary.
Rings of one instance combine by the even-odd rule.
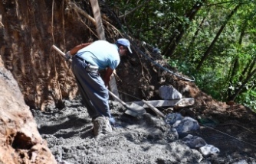
[[[99,69],[116,69],[120,63],[120,55],[116,44],[106,40],[97,40],[89,46],[78,50],[77,56],[85,59],[88,63],[98,66]]]

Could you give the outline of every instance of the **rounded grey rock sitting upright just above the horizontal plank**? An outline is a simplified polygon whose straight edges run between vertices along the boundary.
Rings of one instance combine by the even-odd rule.
[[[172,85],[162,85],[159,87],[159,96],[163,100],[181,99],[182,94],[173,88]]]

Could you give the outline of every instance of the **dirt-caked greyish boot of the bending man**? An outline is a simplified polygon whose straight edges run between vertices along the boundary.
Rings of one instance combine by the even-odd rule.
[[[112,132],[112,127],[108,117],[97,117],[93,120],[93,124],[95,136]]]

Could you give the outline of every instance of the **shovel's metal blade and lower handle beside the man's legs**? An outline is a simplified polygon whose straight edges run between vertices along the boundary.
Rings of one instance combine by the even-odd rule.
[[[110,95],[112,95],[114,98],[117,99],[127,110],[124,112],[125,114],[129,114],[133,117],[142,116],[143,114],[146,114],[145,108],[142,106],[136,105],[135,103],[132,103],[130,106],[127,105],[124,101],[122,101],[120,98],[117,97],[117,95],[113,94],[113,92],[108,91]]]

